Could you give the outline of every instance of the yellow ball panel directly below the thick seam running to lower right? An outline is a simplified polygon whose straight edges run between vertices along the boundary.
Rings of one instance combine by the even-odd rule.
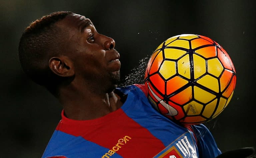
[[[194,86],[194,98],[199,102],[208,103],[216,98],[216,96],[197,86]]]

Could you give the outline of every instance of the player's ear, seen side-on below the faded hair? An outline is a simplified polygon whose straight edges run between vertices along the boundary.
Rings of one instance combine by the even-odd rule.
[[[67,56],[52,57],[49,67],[58,76],[71,77],[75,74],[73,62]]]

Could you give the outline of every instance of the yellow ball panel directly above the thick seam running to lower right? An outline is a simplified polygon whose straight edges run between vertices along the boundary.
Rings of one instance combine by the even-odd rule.
[[[219,83],[218,80],[210,75],[205,75],[196,81],[204,87],[207,87],[217,93],[219,93]]]

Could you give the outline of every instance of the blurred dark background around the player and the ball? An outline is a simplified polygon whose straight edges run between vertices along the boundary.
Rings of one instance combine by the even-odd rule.
[[[122,79],[172,36],[198,34],[220,43],[235,65],[237,86],[229,106],[206,125],[222,151],[255,146],[255,2],[1,0],[0,157],[41,157],[60,120],[58,101],[27,79],[17,56],[29,23],[60,10],[85,15],[115,39]]]

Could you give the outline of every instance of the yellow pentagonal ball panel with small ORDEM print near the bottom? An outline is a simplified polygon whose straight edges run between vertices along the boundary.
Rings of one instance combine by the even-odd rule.
[[[183,109],[185,110],[188,116],[199,115],[203,109],[203,105],[197,103],[196,101],[192,101],[184,105]]]

